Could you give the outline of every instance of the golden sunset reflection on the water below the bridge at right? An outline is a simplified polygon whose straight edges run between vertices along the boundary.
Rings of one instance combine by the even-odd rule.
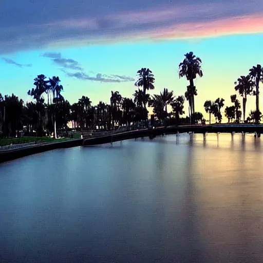
[[[263,262],[260,141],[241,134],[193,135],[189,140],[199,238],[215,258],[217,252],[228,251],[225,262],[241,262],[245,256]]]

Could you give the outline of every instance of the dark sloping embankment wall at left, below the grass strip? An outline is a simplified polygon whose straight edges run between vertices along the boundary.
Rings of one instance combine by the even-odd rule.
[[[2,151],[0,152],[0,163],[11,161],[17,158],[22,158],[32,154],[43,153],[53,149],[81,146],[82,144],[83,144],[82,139],[76,139],[76,140],[68,140],[62,142],[45,143],[40,145],[33,145],[33,146],[28,146],[18,149]]]

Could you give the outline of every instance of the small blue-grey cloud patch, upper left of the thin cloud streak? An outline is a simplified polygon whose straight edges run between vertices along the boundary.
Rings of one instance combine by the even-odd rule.
[[[65,59],[62,58],[61,53],[53,53],[53,52],[46,52],[41,55],[44,58],[49,58],[55,64],[67,68],[67,69],[74,69],[74,70],[83,70],[83,68],[79,65],[79,62],[73,59]]]

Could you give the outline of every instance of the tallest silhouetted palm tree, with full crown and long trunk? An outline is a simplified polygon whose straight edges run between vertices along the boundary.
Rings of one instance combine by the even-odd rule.
[[[195,113],[195,86],[194,79],[199,75],[203,77],[203,71],[201,69],[201,59],[196,57],[193,52],[184,54],[184,60],[179,64],[179,77],[185,77],[190,82],[190,93],[191,93],[191,105],[192,105],[192,114]]]

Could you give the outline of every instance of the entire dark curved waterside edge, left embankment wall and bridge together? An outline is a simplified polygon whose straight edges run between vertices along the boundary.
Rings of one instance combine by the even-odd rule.
[[[257,137],[263,134],[263,125],[185,125],[174,127],[159,127],[156,129],[132,130],[129,132],[110,134],[105,136],[90,137],[83,139],[72,139],[61,142],[42,143],[25,146],[17,149],[0,151],[0,163],[12,161],[33,154],[43,153],[59,148],[71,148],[77,146],[91,146],[104,143],[112,143],[139,137],[156,137],[160,135],[171,135],[178,133],[256,133]]]

